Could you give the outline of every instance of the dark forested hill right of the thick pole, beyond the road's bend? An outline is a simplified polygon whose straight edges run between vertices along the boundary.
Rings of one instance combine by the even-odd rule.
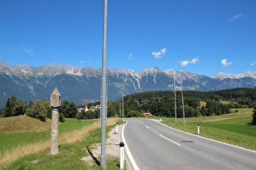
[[[174,91],[146,91],[124,96],[124,114],[131,111],[152,113],[161,117],[175,115]],[[185,117],[212,116],[229,113],[229,108],[253,108],[256,89],[236,88],[223,91],[183,91]],[[206,105],[200,105],[200,101]],[[177,117],[183,116],[181,91],[176,91]],[[135,116],[135,115],[133,115]]]

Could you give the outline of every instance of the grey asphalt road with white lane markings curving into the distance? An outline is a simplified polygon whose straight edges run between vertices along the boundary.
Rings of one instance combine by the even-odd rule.
[[[155,121],[126,121],[125,145],[141,170],[256,169],[255,151],[184,133]]]

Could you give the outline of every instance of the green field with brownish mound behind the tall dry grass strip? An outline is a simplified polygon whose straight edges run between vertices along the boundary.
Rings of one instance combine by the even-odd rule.
[[[66,121],[59,124],[59,135],[72,130],[80,130],[82,127],[92,123],[93,121],[66,119]],[[50,139],[50,120],[43,122],[23,115],[2,118],[0,119],[0,124],[0,155],[13,147]]]

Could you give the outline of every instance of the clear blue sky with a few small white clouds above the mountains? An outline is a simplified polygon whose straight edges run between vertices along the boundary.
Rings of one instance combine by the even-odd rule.
[[[103,0],[0,0],[0,61],[102,67]],[[255,0],[108,0],[109,67],[256,70]]]

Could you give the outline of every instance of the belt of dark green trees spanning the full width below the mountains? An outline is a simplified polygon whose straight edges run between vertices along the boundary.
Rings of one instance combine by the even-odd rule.
[[[176,95],[176,104],[175,104]],[[230,113],[230,108],[254,108],[256,105],[256,89],[235,88],[223,91],[183,91],[184,116],[198,117]],[[118,117],[123,113],[122,100],[109,100],[107,116]],[[90,103],[91,106],[99,102]],[[176,109],[175,109],[176,105]],[[63,100],[59,113],[62,117],[77,119],[92,119],[99,117],[99,108],[78,111],[85,105],[76,105],[74,102]],[[124,117],[142,117],[143,113],[152,113],[158,117],[183,117],[181,91],[145,91],[124,96]],[[27,114],[45,121],[51,117],[50,104],[46,100],[36,100],[34,103],[16,100],[15,96],[7,100],[5,108],[0,109],[0,115],[11,117]]]

